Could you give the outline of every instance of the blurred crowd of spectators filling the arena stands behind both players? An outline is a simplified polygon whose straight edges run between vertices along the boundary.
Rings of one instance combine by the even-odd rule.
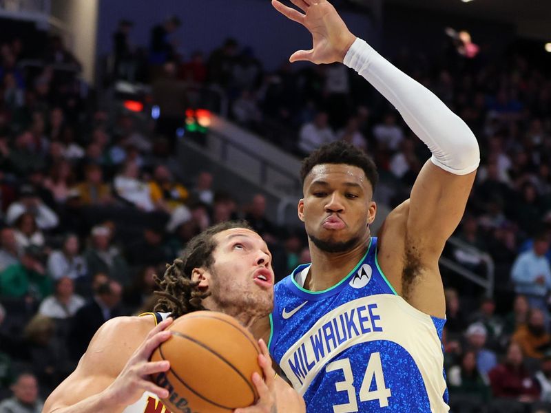
[[[149,48],[138,50],[128,41],[132,22],[121,21],[103,85],[169,74],[216,87],[236,123],[298,156],[347,140],[373,156],[393,188],[377,201],[393,207],[407,198],[430,153],[363,79],[344,65],[284,63],[267,72],[233,39],[208,56],[182,56],[179,24],[173,17],[156,25]],[[38,70],[18,65],[24,49],[17,38],[0,47],[0,399],[10,397],[0,413],[14,403],[39,412],[37,400],[72,371],[98,326],[151,310],[154,273],[211,224],[249,220],[267,240],[278,278],[309,262],[304,231],[271,222],[262,194],[238,205],[214,191],[209,171],[182,176],[166,133],[178,125],[159,129],[99,107],[57,37]],[[444,274],[454,411],[475,412],[492,399],[508,399],[509,409],[521,403],[518,411],[551,402],[551,78],[521,54],[489,63],[484,54],[418,52],[390,57],[463,118],[481,146],[455,237],[495,263],[494,297]],[[56,62],[74,71],[56,70]],[[461,248],[446,254],[474,273],[487,269]]]

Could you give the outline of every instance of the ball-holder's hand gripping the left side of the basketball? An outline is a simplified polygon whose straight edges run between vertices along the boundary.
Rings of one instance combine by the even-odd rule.
[[[149,375],[166,372],[170,368],[169,361],[149,361],[154,350],[169,339],[171,332],[165,330],[172,323],[168,318],[149,332],[141,346],[136,348],[132,357],[126,363],[121,374],[105,389],[107,399],[113,405],[127,406],[138,401],[143,392],[156,394],[160,399],[168,397],[168,390],[160,388],[149,380]]]

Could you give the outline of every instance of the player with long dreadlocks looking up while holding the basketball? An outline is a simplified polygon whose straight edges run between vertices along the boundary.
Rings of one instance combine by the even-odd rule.
[[[45,413],[164,412],[158,399],[167,390],[149,381],[165,372],[168,361],[150,362],[160,343],[170,337],[172,319],[197,310],[215,310],[236,317],[255,337],[256,322],[273,306],[271,254],[260,235],[245,222],[224,222],[190,240],[182,257],[156,277],[160,313],[117,317],[96,335],[79,366],[48,397]],[[260,367],[265,381],[253,375],[258,402],[239,413],[304,412],[304,401],[275,377],[264,341]]]

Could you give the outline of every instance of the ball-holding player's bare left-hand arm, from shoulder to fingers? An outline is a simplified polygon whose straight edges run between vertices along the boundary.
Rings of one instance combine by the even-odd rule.
[[[149,357],[170,337],[165,329],[171,322],[167,319],[159,323],[143,340],[148,328],[146,319],[118,317],[107,321],[90,341],[76,370],[50,394],[43,412],[122,412],[145,391],[167,397],[167,390],[148,377],[167,371],[169,362],[151,362]]]

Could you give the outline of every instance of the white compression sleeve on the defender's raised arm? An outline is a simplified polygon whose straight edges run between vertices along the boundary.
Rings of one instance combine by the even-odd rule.
[[[480,162],[477,139],[459,116],[426,87],[356,39],[344,64],[362,75],[392,103],[406,124],[433,153],[433,163],[455,175],[475,171]]]

